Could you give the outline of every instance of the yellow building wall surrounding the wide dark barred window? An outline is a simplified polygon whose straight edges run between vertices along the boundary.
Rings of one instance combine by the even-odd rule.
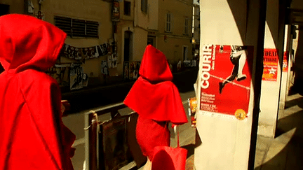
[[[37,1],[33,1],[34,6],[38,9]],[[82,20],[92,20],[99,22],[99,38],[70,38],[67,37],[65,43],[78,48],[86,48],[102,43],[107,43],[112,35],[112,20],[111,20],[112,5],[106,1],[90,0],[65,0],[65,1],[43,1],[41,11],[45,15],[45,20],[54,24],[55,15],[72,17]],[[107,60],[107,55],[97,59],[86,59],[85,64],[82,64],[83,71],[90,77],[100,77],[101,61]],[[61,57],[61,62],[76,62],[72,59]]]

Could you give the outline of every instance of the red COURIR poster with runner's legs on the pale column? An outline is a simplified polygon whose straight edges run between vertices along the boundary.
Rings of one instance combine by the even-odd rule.
[[[203,45],[200,63],[202,114],[248,117],[253,46]]]

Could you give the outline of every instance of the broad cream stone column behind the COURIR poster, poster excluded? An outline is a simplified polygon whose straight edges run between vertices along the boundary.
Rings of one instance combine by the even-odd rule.
[[[200,55],[203,55],[203,44],[250,45],[253,46],[254,61],[248,104],[250,114],[247,118],[244,120],[219,118],[212,116],[212,113],[204,114],[205,111],[200,110],[196,113],[198,135],[194,165],[198,170],[253,169],[262,78],[266,3],[262,0],[200,1]],[[203,64],[203,59],[200,58],[201,64]],[[201,94],[201,73],[200,69],[198,94]],[[200,95],[198,95],[199,98]],[[198,100],[199,103],[200,100]]]

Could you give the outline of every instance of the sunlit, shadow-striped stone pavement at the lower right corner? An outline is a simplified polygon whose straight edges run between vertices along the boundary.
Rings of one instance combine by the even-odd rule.
[[[290,94],[274,139],[257,136],[255,170],[303,169],[303,97]]]

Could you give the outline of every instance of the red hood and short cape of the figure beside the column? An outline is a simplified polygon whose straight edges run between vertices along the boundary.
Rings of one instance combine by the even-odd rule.
[[[171,82],[173,75],[165,55],[152,45],[147,45],[140,77],[128,93],[124,104],[136,111],[141,118],[172,122],[187,122],[177,87]]]

